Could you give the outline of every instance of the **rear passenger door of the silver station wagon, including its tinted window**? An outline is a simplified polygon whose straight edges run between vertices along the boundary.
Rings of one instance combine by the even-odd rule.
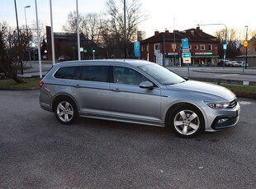
[[[87,117],[109,118],[109,67],[97,65],[79,69],[76,81],[73,81],[73,96],[78,102],[80,113]]]

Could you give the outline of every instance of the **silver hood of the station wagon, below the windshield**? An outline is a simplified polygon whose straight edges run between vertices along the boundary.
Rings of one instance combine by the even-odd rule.
[[[215,85],[201,81],[184,81],[182,83],[178,83],[175,85],[168,85],[167,88],[169,90],[179,90],[183,92],[199,92],[201,95],[205,94],[218,96],[220,98],[227,100],[235,98],[235,94],[231,90],[228,90],[220,85]]]

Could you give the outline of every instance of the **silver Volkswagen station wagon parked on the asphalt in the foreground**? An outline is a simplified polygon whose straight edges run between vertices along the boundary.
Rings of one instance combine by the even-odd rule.
[[[220,85],[129,59],[55,64],[40,81],[40,107],[64,124],[98,118],[169,127],[182,137],[235,126],[240,112],[235,94]]]

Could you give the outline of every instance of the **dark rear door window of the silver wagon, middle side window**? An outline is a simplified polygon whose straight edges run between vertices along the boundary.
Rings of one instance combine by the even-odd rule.
[[[83,81],[108,82],[107,66],[84,66],[81,79]]]

